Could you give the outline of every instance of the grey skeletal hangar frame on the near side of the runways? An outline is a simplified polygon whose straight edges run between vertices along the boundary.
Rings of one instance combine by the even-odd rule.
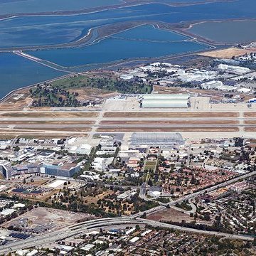
[[[132,145],[173,146],[184,144],[180,133],[176,132],[134,132],[131,137]]]

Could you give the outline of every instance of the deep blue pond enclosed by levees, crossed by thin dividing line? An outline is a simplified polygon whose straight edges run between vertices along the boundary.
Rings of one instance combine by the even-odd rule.
[[[146,40],[141,40],[141,38]],[[188,38],[185,36],[155,29],[153,26],[141,26],[117,33],[115,38],[107,38],[90,46],[28,51],[27,53],[58,65],[70,67],[109,63],[127,58],[153,58],[207,48],[198,43],[184,41],[186,39]]]

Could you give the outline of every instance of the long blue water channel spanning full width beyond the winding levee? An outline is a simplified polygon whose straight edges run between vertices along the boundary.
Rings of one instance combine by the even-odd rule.
[[[75,16],[18,17],[0,21],[0,48],[68,43],[84,36],[90,28],[123,21],[147,20],[178,23],[255,17],[255,0],[178,7],[147,4]]]

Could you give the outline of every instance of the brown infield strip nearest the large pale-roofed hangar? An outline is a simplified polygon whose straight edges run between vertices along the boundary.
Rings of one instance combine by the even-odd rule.
[[[184,118],[184,117],[239,117],[238,112],[106,112],[104,117]]]

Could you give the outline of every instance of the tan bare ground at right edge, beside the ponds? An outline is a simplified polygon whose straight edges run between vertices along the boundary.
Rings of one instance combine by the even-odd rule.
[[[255,52],[255,49],[248,50],[248,49],[239,49],[239,48],[228,48],[223,50],[206,51],[204,53],[199,53],[199,55],[212,57],[212,58],[232,58],[233,56],[237,57],[240,55],[244,55],[245,53],[252,53],[252,52]]]

